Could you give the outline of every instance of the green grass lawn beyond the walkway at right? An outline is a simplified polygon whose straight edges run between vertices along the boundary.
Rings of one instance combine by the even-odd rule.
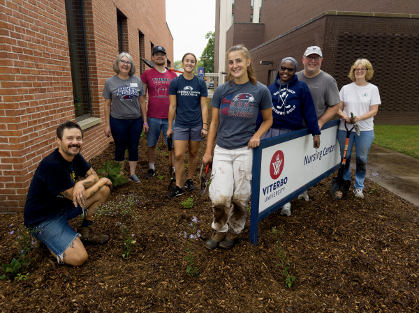
[[[419,159],[419,125],[374,125],[378,146]]]

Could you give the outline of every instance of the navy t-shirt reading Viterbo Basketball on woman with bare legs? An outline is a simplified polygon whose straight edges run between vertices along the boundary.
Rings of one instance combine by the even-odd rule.
[[[203,78],[194,75],[189,80],[180,75],[170,82],[169,95],[177,96],[176,127],[194,128],[203,125],[200,97],[208,96]]]

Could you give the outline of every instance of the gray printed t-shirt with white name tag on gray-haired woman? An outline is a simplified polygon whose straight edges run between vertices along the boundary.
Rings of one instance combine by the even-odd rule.
[[[118,75],[106,79],[103,98],[111,100],[110,116],[114,119],[138,119],[141,117],[139,98],[145,95],[140,77],[121,79]]]

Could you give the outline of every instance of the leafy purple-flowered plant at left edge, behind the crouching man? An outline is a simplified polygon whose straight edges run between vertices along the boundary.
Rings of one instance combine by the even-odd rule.
[[[9,236],[15,237],[15,243],[19,246],[19,259],[13,258],[10,264],[1,264],[1,267],[3,269],[4,275],[0,276],[0,280],[4,280],[7,277],[10,280],[13,280],[13,278],[20,277],[20,272],[24,269],[23,266],[26,266],[26,268],[29,268],[28,264],[31,260],[30,258],[27,258],[27,254],[31,252],[32,247],[34,246],[34,241],[32,241],[32,234],[35,233],[41,233],[42,229],[31,229],[30,227],[24,227],[21,225],[20,227],[15,227],[13,224],[10,224],[8,229]],[[27,280],[27,275],[24,275]],[[22,280],[22,279],[20,279]]]

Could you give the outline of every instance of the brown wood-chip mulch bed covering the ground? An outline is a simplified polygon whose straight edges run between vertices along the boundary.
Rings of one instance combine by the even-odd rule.
[[[374,186],[368,179],[365,199],[351,192],[346,200],[335,201],[329,177],[309,190],[308,202],[291,201],[291,216],[277,211],[260,222],[257,247],[249,242],[248,217],[233,249],[208,251],[208,192],[204,197],[197,190],[166,199],[170,174],[163,137],[158,146],[157,176],[143,179],[148,162],[147,143],[141,139],[142,183],[126,183],[111,194],[111,199],[129,192],[138,195],[138,220],[128,218],[126,223],[137,240],[131,257],[122,259],[122,234],[115,217],[104,217],[95,227],[109,234],[110,241],[88,245],[89,259],[83,266],[59,265],[43,247],[31,253],[27,282],[0,281],[1,312],[418,312],[417,206],[384,188],[369,193]],[[90,161],[96,171],[113,160],[114,150],[110,144]],[[198,160],[204,151],[203,143]],[[180,202],[189,197],[193,207],[185,209]],[[198,277],[185,272],[189,241],[179,237],[193,216],[203,232],[193,241]],[[22,222],[23,213],[0,215],[1,263],[18,257],[8,226]],[[71,225],[80,222],[78,217]],[[296,277],[291,289],[285,287],[277,265],[277,245],[268,234],[272,227],[283,232],[282,246]]]

